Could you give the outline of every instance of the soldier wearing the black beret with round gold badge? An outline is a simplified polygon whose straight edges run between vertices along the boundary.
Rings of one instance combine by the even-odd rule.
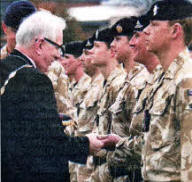
[[[112,26],[115,36],[114,41],[111,43],[112,50],[115,52],[117,60],[123,62],[124,68],[128,73],[127,79],[119,91],[115,103],[110,107],[112,113],[111,132],[121,137],[130,136],[129,128],[132,119],[132,110],[149,77],[147,69],[134,61],[133,50],[129,45],[129,41],[134,34],[135,26],[141,26],[135,17],[123,18]],[[110,158],[110,153],[108,158]],[[130,170],[129,175],[123,175],[122,168],[120,170],[116,168],[116,171],[119,171],[119,175],[116,174],[113,176],[113,181],[127,182],[141,180],[140,168],[135,170],[135,172],[134,170]]]

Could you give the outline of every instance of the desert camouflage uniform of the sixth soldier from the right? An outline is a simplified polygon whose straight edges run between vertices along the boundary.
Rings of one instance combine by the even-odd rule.
[[[78,126],[79,105],[83,102],[83,99],[90,88],[91,78],[84,74],[78,82],[73,80],[69,86],[69,97],[73,106],[76,108],[75,121]],[[65,133],[69,133],[71,136],[77,135],[77,126],[68,126],[65,129]],[[77,182],[77,169],[78,164],[69,162],[70,182]]]

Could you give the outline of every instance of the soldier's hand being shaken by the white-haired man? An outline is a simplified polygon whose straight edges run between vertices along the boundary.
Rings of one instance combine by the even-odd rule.
[[[97,138],[103,143],[104,147],[113,147],[121,139],[121,137],[116,134],[100,135],[97,136]]]

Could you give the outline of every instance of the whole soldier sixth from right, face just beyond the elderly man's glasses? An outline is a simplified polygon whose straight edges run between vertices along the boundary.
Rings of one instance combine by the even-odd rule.
[[[73,107],[73,119],[76,124],[67,126],[65,133],[68,135],[75,135],[77,133],[78,125],[78,107],[84,99],[85,94],[90,88],[91,78],[84,72],[80,56],[83,52],[85,42],[74,41],[66,44],[64,59],[61,61],[66,70],[66,74],[70,79],[69,95]],[[74,112],[75,111],[75,112]],[[70,181],[77,182],[77,168],[78,164],[69,162]]]

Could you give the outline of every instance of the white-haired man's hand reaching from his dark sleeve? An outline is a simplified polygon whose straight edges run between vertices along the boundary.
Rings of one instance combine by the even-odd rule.
[[[97,135],[94,133],[90,133],[86,135],[89,138],[89,153],[94,154],[101,150],[101,148],[104,146],[102,140],[99,140],[97,138]]]

